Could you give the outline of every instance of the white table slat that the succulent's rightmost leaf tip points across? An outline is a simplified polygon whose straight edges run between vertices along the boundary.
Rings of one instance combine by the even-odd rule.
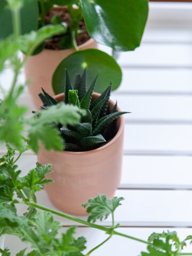
[[[124,118],[129,121],[179,120],[192,122],[192,94],[188,96],[172,95],[112,95],[122,111],[130,111]]]

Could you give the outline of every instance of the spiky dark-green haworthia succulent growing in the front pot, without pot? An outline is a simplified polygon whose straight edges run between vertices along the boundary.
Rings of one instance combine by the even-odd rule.
[[[66,104],[72,104],[79,109],[86,109],[87,114],[82,116],[81,123],[75,126],[60,126],[59,129],[65,139],[65,150],[87,151],[101,147],[108,143],[117,133],[116,119],[129,112],[118,112],[117,103],[109,111],[109,97],[111,84],[95,100],[92,100],[97,77],[95,77],[89,89],[86,89],[86,70],[82,76],[76,76],[75,85],[70,83],[67,70],[65,71],[65,97]],[[39,94],[43,102],[42,108],[58,104],[59,102],[47,94],[43,89]]]

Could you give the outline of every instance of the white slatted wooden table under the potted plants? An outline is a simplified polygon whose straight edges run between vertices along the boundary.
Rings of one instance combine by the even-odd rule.
[[[141,239],[167,229],[185,238],[192,234],[192,4],[150,7],[141,47],[119,58],[123,83],[112,95],[122,110],[132,112],[125,117],[123,175],[116,193],[125,201],[115,220],[121,224],[119,231]],[[9,70],[1,79],[10,79]],[[21,102],[34,109],[27,92]],[[29,152],[19,167],[27,172],[35,162]],[[38,202],[54,209],[44,191]],[[63,229],[74,224],[61,221]],[[110,219],[103,225],[109,226]],[[87,237],[87,251],[106,238],[102,231],[78,226],[77,236],[82,235]],[[7,237],[5,245],[13,255],[25,247],[13,237]],[[137,256],[145,248],[113,237],[92,255]]]

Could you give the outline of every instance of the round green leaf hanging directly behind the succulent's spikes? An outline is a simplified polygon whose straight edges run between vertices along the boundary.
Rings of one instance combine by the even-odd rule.
[[[82,75],[85,68],[87,70],[87,86],[92,84],[95,76],[99,73],[95,92],[102,93],[110,82],[113,83],[113,90],[115,90],[121,83],[122,72],[114,58],[97,49],[88,49],[75,52],[61,61],[52,79],[55,94],[65,90],[65,69],[68,71],[70,82],[74,85],[76,75]]]

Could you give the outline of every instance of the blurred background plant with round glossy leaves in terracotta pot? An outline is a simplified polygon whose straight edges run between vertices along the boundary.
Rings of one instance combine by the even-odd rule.
[[[2,4],[5,2],[6,0],[2,0]],[[30,8],[28,7],[29,5]],[[26,78],[31,79],[29,90],[33,95],[36,106],[39,106],[40,103],[37,94],[41,91],[41,86],[44,87],[44,89],[51,95],[53,95],[53,91],[56,94],[62,92],[61,84],[62,81],[65,81],[65,77],[63,77],[65,74],[62,73],[63,68],[67,68],[70,76],[72,76],[74,73],[81,74],[85,67],[87,67],[87,69],[90,71],[89,74],[94,74],[95,70],[100,70],[100,76],[98,79],[98,84],[95,87],[95,91],[102,92],[105,90],[106,87],[105,85],[103,87],[103,84],[108,84],[110,82],[109,79],[111,78],[114,81],[113,90],[117,89],[121,83],[122,73],[116,61],[108,54],[99,50],[92,49],[88,52],[82,51],[81,53],[79,53],[78,50],[83,50],[84,46],[89,48],[95,47],[94,41],[107,45],[114,51],[134,50],[135,47],[139,46],[143,30],[145,28],[148,14],[148,1],[120,0],[118,2],[110,1],[110,3],[106,4],[105,1],[94,3],[94,1],[90,2],[86,0],[27,0],[22,8],[23,15],[21,15],[22,26],[24,27],[23,33],[30,31],[30,26],[26,28],[26,25],[28,24],[31,24],[31,29],[34,29],[35,25],[38,28],[46,26],[45,17],[47,12],[49,13],[54,5],[68,6],[71,17],[71,25],[69,29],[67,29],[66,23],[65,25],[63,24],[62,19],[60,19],[58,15],[53,15],[50,22],[54,24],[61,23],[66,29],[66,31],[62,32],[62,34],[65,35],[64,37],[59,35],[59,38],[64,38],[61,39],[62,44],[59,43],[59,45],[62,45],[61,49],[66,49],[72,45],[73,50],[44,49],[45,44],[42,44],[41,47],[38,46],[38,49],[36,49],[35,52],[39,53],[39,51],[44,50],[38,55],[30,57],[28,62],[26,62]],[[75,8],[73,7],[74,5]],[[24,15],[26,9],[31,13],[31,15]],[[5,4],[2,6],[2,10],[0,11],[0,17],[1,12],[3,14],[3,18],[0,21],[2,24],[5,24],[9,19],[9,15],[11,15],[10,13],[7,13]],[[119,15],[119,13],[121,13],[121,15]],[[81,32],[82,30],[79,29],[79,20],[82,20],[82,18],[85,21],[88,34],[94,39],[94,41],[91,39],[90,45],[88,45],[87,42],[85,45],[78,47],[76,37],[79,34],[79,31]],[[12,26],[10,23],[8,23],[8,25],[9,27]],[[7,35],[6,31],[11,30],[7,29],[7,26],[1,27],[0,38]],[[103,31],[104,28],[105,31]],[[4,32],[4,30],[6,31]],[[68,35],[68,31],[70,31],[70,35]],[[70,54],[73,51],[75,52]],[[70,54],[70,56],[61,63],[61,65],[58,67],[57,74],[54,76],[52,91],[51,78],[53,72],[63,58],[65,58],[68,54]],[[102,63],[102,68],[100,63]],[[111,77],[109,78],[106,74],[111,74]],[[91,76],[88,76],[87,79],[89,82],[92,81]]]

